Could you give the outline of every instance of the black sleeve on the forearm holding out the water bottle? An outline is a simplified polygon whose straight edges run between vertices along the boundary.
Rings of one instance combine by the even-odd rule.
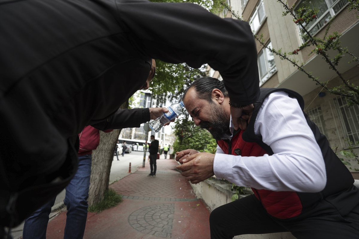
[[[115,114],[91,126],[98,130],[138,128],[141,123],[150,120],[150,110],[145,109],[118,109]]]

